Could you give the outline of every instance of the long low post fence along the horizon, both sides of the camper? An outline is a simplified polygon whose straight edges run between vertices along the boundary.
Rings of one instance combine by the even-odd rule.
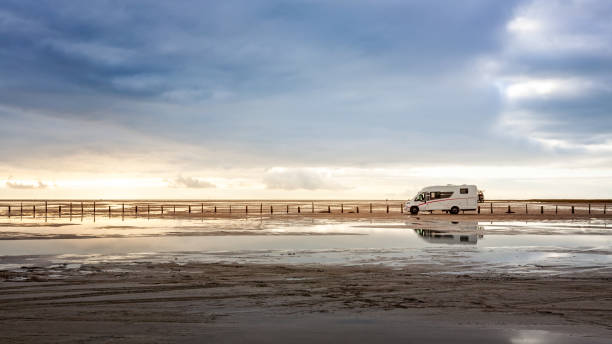
[[[204,216],[210,214],[403,214],[402,201],[5,200],[0,216]],[[612,215],[607,203],[489,201],[462,214]]]

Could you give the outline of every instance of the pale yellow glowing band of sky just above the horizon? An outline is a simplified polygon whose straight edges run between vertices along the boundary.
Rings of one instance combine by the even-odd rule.
[[[225,174],[225,177],[220,177]],[[551,185],[579,182],[581,193],[569,186],[547,192]],[[118,178],[0,180],[0,198],[227,198],[227,199],[384,199],[406,198],[422,186],[477,184],[491,190],[489,197],[537,198],[605,197],[611,190],[591,185],[612,181],[612,168],[564,166],[424,165],[375,168],[287,167],[194,172],[174,178],[130,176]],[[518,191],[517,185],[529,185]],[[570,185],[570,184],[568,184]],[[588,193],[584,193],[588,191]],[[586,196],[582,196],[585,194]]]

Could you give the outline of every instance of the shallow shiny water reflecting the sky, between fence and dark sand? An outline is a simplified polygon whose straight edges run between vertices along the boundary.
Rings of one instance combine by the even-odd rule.
[[[49,223],[70,223],[54,220]],[[612,236],[605,221],[429,223],[312,218],[89,219],[69,226],[3,221],[0,259],[52,255],[57,261],[437,264],[447,272],[609,272]],[[24,226],[24,224],[26,226]],[[530,234],[530,232],[537,234]],[[552,234],[542,234],[550,232]],[[492,233],[492,234],[491,234]],[[594,234],[590,234],[594,233]],[[612,231],[611,231],[612,233]],[[13,265],[13,264],[11,264]],[[7,267],[8,265],[5,265]]]

